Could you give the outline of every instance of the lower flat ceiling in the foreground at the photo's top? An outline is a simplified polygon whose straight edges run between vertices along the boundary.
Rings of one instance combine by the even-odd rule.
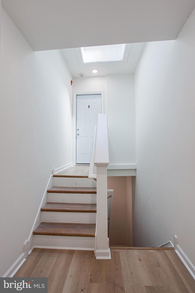
[[[2,0],[35,51],[176,39],[195,0]]]

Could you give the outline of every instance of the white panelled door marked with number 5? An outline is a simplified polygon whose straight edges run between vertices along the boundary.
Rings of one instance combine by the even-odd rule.
[[[101,95],[76,96],[76,164],[90,163],[98,114],[101,114]]]

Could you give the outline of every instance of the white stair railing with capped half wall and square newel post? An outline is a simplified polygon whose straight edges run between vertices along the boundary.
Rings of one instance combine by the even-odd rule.
[[[98,126],[94,129],[88,176],[89,178],[97,180],[96,259],[111,259],[108,238],[108,164],[108,116],[107,114],[98,114]],[[96,174],[94,174],[94,165],[97,167]]]

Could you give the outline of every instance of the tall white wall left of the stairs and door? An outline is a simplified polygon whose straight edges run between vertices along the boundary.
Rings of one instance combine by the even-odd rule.
[[[72,162],[71,79],[61,51],[34,52],[2,9],[0,276],[23,252],[52,167]]]

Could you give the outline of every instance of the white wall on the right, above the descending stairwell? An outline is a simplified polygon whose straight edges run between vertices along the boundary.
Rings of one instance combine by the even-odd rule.
[[[176,41],[148,43],[135,72],[134,244],[178,237],[195,264],[195,11]]]

